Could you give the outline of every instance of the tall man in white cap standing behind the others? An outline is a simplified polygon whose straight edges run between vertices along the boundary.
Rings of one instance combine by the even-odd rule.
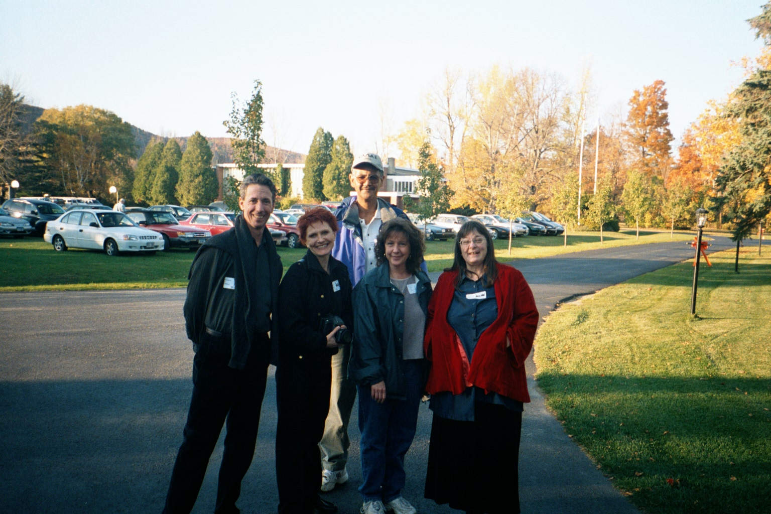
[[[340,230],[335,236],[332,256],[348,267],[351,284],[375,268],[375,240],[382,223],[395,217],[407,219],[401,209],[378,198],[383,182],[383,164],[375,153],[365,153],[354,160],[348,176],[355,195],[345,198],[335,210]],[[426,270],[426,264],[421,264]],[[322,451],[322,491],[348,480],[348,420],[356,399],[354,383],[347,378],[350,348],[344,346],[332,357],[332,391],[329,398]]]

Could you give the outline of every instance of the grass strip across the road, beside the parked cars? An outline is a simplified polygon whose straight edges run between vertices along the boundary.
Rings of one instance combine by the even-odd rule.
[[[692,233],[675,233],[675,240],[690,240]],[[581,232],[567,237],[517,237],[495,241],[496,257],[504,262],[513,258],[546,257],[592,248],[625,244],[658,243],[670,240],[668,232],[641,232],[635,241],[633,230],[605,233]],[[429,271],[441,271],[453,264],[455,240],[427,241],[426,264]],[[278,248],[284,270],[305,255],[305,248]],[[82,289],[136,289],[187,287],[187,272],[194,253],[170,250],[155,255],[124,254],[107,257],[104,252],[71,249],[57,253],[41,238],[0,239],[0,291],[51,291]]]

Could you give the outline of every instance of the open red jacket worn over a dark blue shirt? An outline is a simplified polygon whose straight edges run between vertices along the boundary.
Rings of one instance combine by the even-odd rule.
[[[538,326],[538,311],[533,292],[522,274],[506,264],[498,264],[495,298],[498,317],[480,335],[469,362],[463,344],[447,322],[453,301],[456,270],[439,276],[429,302],[426,338],[423,347],[431,363],[426,391],[435,394],[451,391],[460,395],[471,385],[485,391],[527,402],[525,359],[533,348]],[[509,338],[511,346],[507,348]]]

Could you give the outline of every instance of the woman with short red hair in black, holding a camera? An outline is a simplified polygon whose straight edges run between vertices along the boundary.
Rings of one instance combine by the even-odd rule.
[[[331,255],[335,215],[318,207],[303,214],[297,227],[308,251],[289,267],[278,289],[278,512],[328,514],[337,508],[318,496],[318,442],[329,411],[332,355],[351,343],[352,286],[345,264]]]

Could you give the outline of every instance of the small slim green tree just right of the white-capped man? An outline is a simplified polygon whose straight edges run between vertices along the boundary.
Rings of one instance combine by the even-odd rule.
[[[449,210],[449,200],[453,192],[444,180],[444,170],[436,163],[431,143],[424,142],[418,155],[420,177],[415,183],[415,193],[419,200],[415,202],[411,197],[405,196],[404,207],[416,213],[418,220],[432,220],[436,215]]]

